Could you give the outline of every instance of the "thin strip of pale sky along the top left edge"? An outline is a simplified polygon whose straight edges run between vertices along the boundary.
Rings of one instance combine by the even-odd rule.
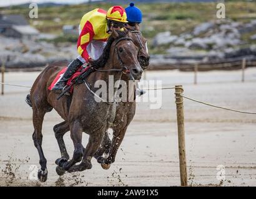
[[[56,3],[66,3],[66,4],[74,4],[74,3],[81,3],[86,2],[87,0],[0,0],[0,7],[2,6],[12,6],[17,4],[24,4],[27,2],[56,2]],[[92,0],[93,1],[93,0]]]

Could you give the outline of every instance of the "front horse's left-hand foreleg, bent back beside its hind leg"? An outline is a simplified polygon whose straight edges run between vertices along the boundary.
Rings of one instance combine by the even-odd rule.
[[[59,166],[62,167],[65,170],[69,170],[72,165],[76,164],[77,162],[80,162],[83,155],[83,149],[82,146],[82,125],[79,121],[74,121],[73,123],[69,124],[70,130],[71,130],[71,139],[74,144],[74,153],[71,160],[67,162],[59,162]]]

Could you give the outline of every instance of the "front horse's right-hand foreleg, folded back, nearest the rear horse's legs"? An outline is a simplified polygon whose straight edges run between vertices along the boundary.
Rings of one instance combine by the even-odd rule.
[[[73,165],[68,172],[82,171],[86,169],[91,169],[91,159],[96,153],[97,149],[101,146],[102,139],[104,137],[104,131],[96,131],[89,137],[89,142],[84,150],[84,156],[82,162],[79,165]]]

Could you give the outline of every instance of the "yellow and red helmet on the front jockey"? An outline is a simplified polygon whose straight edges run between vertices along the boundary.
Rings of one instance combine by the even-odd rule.
[[[122,6],[112,6],[107,11],[107,19],[127,23],[126,10]]]

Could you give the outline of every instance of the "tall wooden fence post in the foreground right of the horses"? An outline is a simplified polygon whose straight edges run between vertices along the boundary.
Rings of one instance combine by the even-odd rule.
[[[183,93],[181,85],[175,86],[175,103],[177,109],[177,125],[178,125],[178,140],[179,140],[179,160],[180,160],[180,184],[187,186],[187,162],[185,154],[185,131],[184,131],[184,107]]]

